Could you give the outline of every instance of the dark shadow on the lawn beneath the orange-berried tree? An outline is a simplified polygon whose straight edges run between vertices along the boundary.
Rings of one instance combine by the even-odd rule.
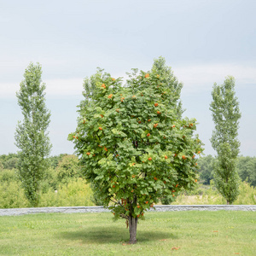
[[[118,241],[129,241],[129,230],[117,227],[83,227],[81,230],[67,231],[59,234],[60,239],[79,240],[82,243],[117,243]],[[137,241],[159,241],[166,239],[177,239],[177,236],[164,231],[137,230]]]

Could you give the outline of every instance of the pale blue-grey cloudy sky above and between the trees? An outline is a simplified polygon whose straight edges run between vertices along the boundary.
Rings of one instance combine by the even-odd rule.
[[[76,129],[84,78],[101,67],[125,79],[163,56],[183,83],[183,115],[199,122],[205,154],[216,154],[212,86],[235,77],[240,154],[256,156],[255,10],[255,0],[0,0],[0,154],[19,150],[16,91],[30,62],[42,65],[57,155],[74,153],[67,135]]]

